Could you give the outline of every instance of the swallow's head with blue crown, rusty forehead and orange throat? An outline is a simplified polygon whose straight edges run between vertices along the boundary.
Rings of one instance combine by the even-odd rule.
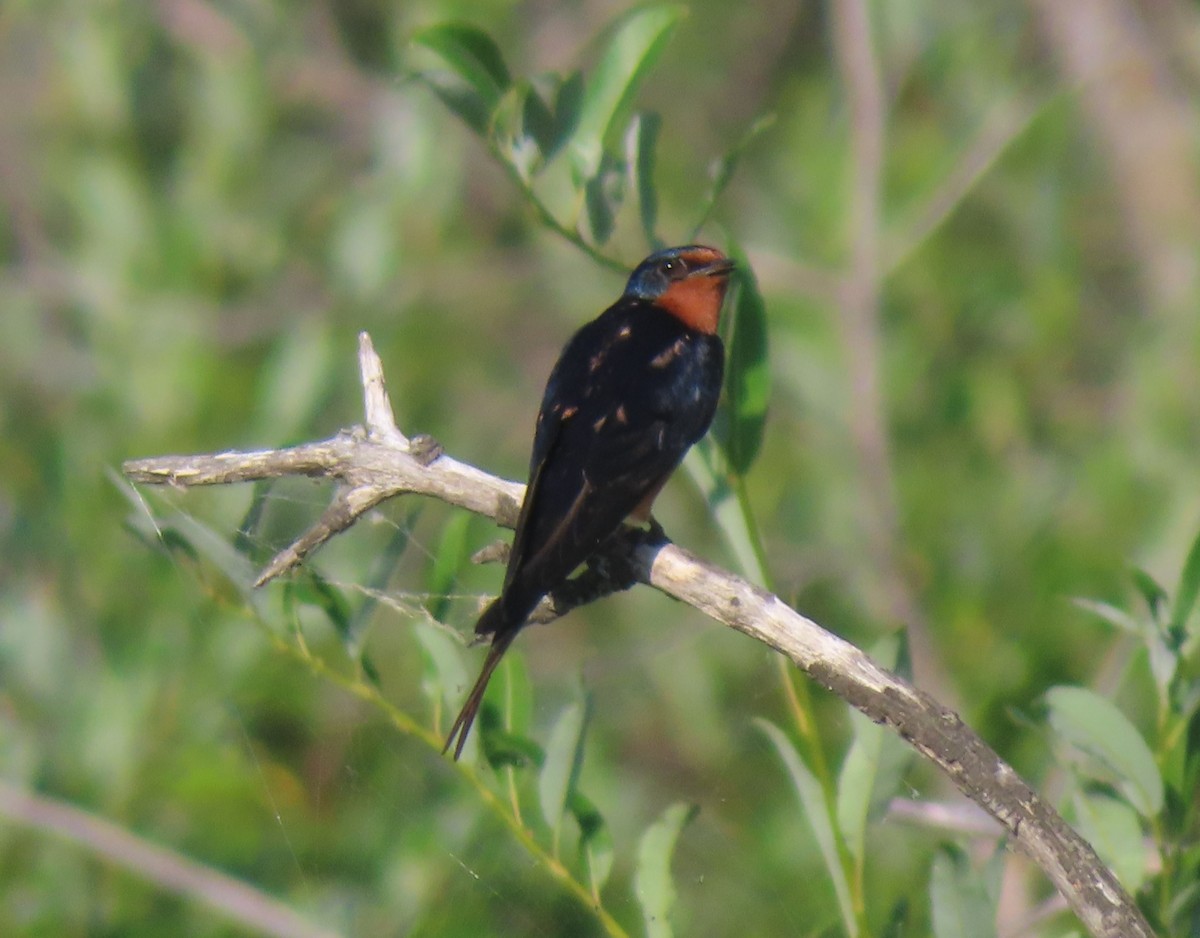
[[[712,335],[732,272],[733,261],[715,247],[668,247],[637,265],[625,284],[625,296],[649,300],[690,329]]]

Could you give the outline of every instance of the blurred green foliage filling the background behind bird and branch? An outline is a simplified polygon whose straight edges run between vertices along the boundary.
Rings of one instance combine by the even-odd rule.
[[[1157,70],[1136,88],[1194,137],[1200,77],[1171,43],[1200,23],[1162,7],[1174,26],[1130,7]],[[841,325],[860,233],[839,20],[755,10],[0,7],[5,782],[348,934],[653,934],[670,912],[688,936],[908,936],[995,908],[991,841],[968,860],[881,817],[878,780],[842,776],[834,806],[812,760],[918,800],[952,796],[942,778],[824,695],[798,754],[770,655],[690,609],[642,589],[530,630],[488,735],[544,768],[460,774],[436,741],[476,660],[446,626],[499,583],[466,561],[492,525],[388,505],[251,593],[328,492],[116,476],[359,421],[368,330],[403,429],[518,477],[554,355],[620,289],[608,267],[695,235],[740,246],[757,290],[726,449],[668,487],[668,531],[860,644],[914,626],[917,681],[1068,793],[1164,933],[1194,933],[1200,237],[1178,217],[1196,157],[1106,146],[1105,82],[1134,79],[1081,84],[1034,7],[870,6],[881,524]],[[1080,693],[1145,753],[1106,752],[1116,718]],[[833,841],[797,808],[805,771]],[[1009,921],[1045,894],[1026,879]],[[242,933],[12,818],[0,932]]]

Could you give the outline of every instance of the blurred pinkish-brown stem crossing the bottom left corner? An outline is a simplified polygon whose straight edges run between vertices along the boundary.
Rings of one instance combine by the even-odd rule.
[[[174,850],[150,843],[74,805],[26,792],[0,780],[0,814],[74,841],[137,876],[198,900],[242,928],[278,938],[336,938],[276,898]]]

